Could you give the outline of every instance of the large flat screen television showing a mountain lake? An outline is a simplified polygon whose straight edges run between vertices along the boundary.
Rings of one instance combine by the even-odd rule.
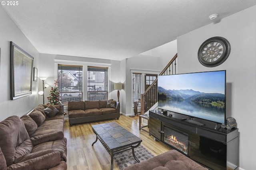
[[[158,76],[158,109],[225,124],[226,70]]]

